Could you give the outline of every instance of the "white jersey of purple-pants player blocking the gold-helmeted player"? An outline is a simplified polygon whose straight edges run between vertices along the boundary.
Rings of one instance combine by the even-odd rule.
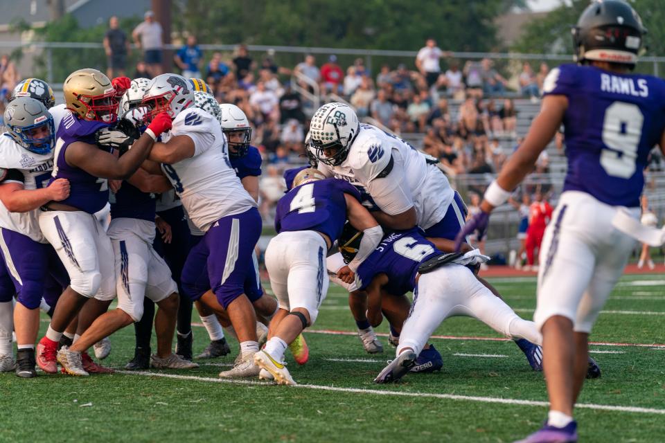
[[[229,161],[227,139],[217,119],[198,108],[181,111],[162,140],[186,135],[194,155],[161,168],[195,226],[206,232],[215,221],[256,208]]]

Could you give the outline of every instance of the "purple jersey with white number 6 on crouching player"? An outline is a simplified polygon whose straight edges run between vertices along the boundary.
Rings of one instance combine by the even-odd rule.
[[[423,237],[420,228],[402,230],[384,237],[373,253],[358,266],[355,274],[357,288],[369,286],[374,275],[388,275],[384,289],[401,296],[416,287],[420,263],[441,254],[436,246]]]

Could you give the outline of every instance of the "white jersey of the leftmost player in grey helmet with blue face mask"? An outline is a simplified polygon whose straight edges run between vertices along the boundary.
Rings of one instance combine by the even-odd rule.
[[[6,134],[2,134],[0,168],[10,170],[2,183],[21,183],[24,189],[28,190],[44,188],[51,179],[53,152],[44,155],[35,154],[21,147]],[[27,235],[35,242],[46,243],[39,228],[39,208],[27,213],[10,213],[0,201],[0,228]]]

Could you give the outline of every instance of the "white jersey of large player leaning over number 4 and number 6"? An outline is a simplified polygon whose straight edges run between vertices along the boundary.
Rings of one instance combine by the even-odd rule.
[[[341,165],[319,162],[319,170],[361,188],[384,213],[396,215],[414,206],[423,229],[441,221],[454,198],[448,179],[425,154],[372,125],[360,124]]]

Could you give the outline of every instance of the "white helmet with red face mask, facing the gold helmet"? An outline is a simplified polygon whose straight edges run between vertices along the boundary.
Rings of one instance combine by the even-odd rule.
[[[194,105],[194,90],[182,75],[157,75],[150,80],[148,89],[143,94],[142,104],[150,109],[145,116],[145,123],[149,123],[161,112],[176,118],[181,111]]]

